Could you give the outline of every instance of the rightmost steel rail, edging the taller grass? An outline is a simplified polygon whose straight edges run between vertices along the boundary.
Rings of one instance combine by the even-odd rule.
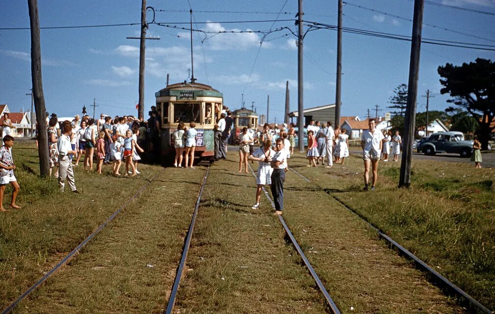
[[[294,170],[292,168],[290,168],[290,169],[292,171],[294,171],[295,173],[297,173],[301,178],[303,178],[307,182],[311,182],[309,179],[307,179],[303,175],[299,174],[296,170]],[[322,191],[324,191],[321,187],[319,187],[319,188]],[[431,281],[434,281],[433,283],[441,283],[441,285],[444,288],[446,288],[446,290],[449,293],[454,294],[454,295],[460,297],[461,299],[467,301],[467,303],[469,304],[469,308],[471,310],[475,310],[476,313],[493,314],[492,311],[490,311],[489,309],[487,309],[486,307],[484,307],[480,302],[476,301],[473,297],[471,297],[469,294],[467,294],[464,290],[462,290],[461,288],[457,287],[455,284],[453,284],[450,280],[448,280],[443,275],[440,275],[437,271],[435,271],[428,264],[426,264],[421,259],[419,259],[416,255],[414,255],[409,250],[407,250],[405,247],[403,247],[402,245],[400,245],[399,243],[397,243],[393,238],[391,238],[390,236],[387,236],[387,234],[385,234],[383,231],[381,231],[379,228],[377,228],[375,225],[373,225],[371,222],[369,222],[368,219],[364,215],[362,215],[361,213],[359,213],[356,210],[354,210],[352,207],[350,207],[345,202],[343,202],[342,200],[340,200],[337,196],[333,196],[329,192],[326,192],[326,191],[324,191],[324,192],[327,193],[329,196],[332,196],[335,200],[337,200],[339,203],[341,203],[342,205],[344,205],[344,207],[346,207],[348,210],[350,210],[351,212],[353,212],[354,214],[356,214],[359,218],[361,218],[362,220],[364,220],[364,222],[366,222],[368,224],[368,226],[371,227],[371,229],[373,229],[374,231],[376,231],[381,238],[383,238],[384,240],[386,240],[387,242],[389,242],[390,245],[396,247],[396,249],[401,254],[403,254],[403,255],[407,256],[409,259],[413,260],[414,263],[415,263],[415,265],[416,265],[416,267],[418,267],[419,269],[421,269],[423,271],[426,271],[431,276],[433,276],[437,280],[437,281],[431,280]]]

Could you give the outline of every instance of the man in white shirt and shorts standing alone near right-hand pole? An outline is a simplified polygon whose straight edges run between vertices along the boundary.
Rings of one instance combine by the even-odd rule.
[[[371,183],[371,191],[375,190],[378,171],[378,160],[380,160],[380,153],[382,152],[382,140],[384,136],[382,132],[375,128],[375,119],[369,119],[369,129],[363,132],[361,137],[361,148],[363,149],[364,160],[364,191],[368,191],[369,170],[370,164],[373,171],[373,181]]]

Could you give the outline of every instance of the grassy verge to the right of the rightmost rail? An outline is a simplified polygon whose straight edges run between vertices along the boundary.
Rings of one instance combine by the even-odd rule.
[[[362,192],[359,157],[298,172],[367,217],[440,274],[495,310],[495,170],[413,159],[410,189],[397,189],[399,162],[380,162],[374,192]]]

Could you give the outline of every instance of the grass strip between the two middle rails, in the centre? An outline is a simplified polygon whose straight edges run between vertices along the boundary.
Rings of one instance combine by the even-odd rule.
[[[325,312],[267,201],[250,209],[255,179],[236,167],[229,159],[210,170],[177,313]]]

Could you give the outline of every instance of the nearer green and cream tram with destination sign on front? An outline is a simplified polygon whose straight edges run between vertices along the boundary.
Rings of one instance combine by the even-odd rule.
[[[206,84],[183,82],[168,85],[155,97],[156,108],[161,109],[161,155],[175,155],[173,133],[179,122],[189,127],[194,121],[198,131],[195,157],[213,160],[213,127],[222,113],[223,94]]]

